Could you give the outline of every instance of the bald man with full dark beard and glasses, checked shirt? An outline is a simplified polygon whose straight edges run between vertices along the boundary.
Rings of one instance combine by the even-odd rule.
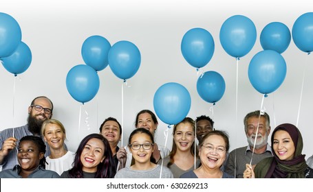
[[[28,107],[28,123],[26,125],[8,128],[0,132],[0,167],[2,170],[12,169],[18,164],[17,146],[23,136],[41,137],[41,125],[46,119],[51,119],[52,111],[53,104],[49,98],[45,96],[36,97]],[[45,156],[49,154],[50,149],[47,147]]]

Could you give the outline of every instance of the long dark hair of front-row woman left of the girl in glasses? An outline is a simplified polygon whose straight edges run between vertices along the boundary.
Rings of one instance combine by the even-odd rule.
[[[96,133],[85,136],[85,138],[80,142],[75,154],[73,167],[72,169],[69,169],[69,176],[71,176],[71,178],[83,178],[83,164],[81,163],[80,155],[82,154],[87,142],[94,138],[100,139],[100,141],[102,141],[102,143],[105,145],[105,160],[103,160],[102,163],[99,163],[97,166],[95,178],[114,178],[116,169],[114,169],[115,165],[109,141],[107,141],[107,139],[105,139],[105,137],[101,134]]]

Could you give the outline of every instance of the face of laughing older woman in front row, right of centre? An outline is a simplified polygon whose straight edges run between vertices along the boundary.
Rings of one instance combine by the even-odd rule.
[[[226,160],[226,143],[222,136],[211,135],[199,148],[201,163],[207,169],[219,169]]]

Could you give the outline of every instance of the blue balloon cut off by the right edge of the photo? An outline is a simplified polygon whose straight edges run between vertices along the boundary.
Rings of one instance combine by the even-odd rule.
[[[313,51],[313,12],[299,16],[292,27],[292,39],[301,51]]]

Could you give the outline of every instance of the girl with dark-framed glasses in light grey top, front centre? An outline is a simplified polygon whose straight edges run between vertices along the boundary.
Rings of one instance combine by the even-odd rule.
[[[129,150],[133,156],[133,165],[120,169],[115,178],[173,178],[167,167],[155,164],[153,135],[149,130],[137,128],[129,136]]]

